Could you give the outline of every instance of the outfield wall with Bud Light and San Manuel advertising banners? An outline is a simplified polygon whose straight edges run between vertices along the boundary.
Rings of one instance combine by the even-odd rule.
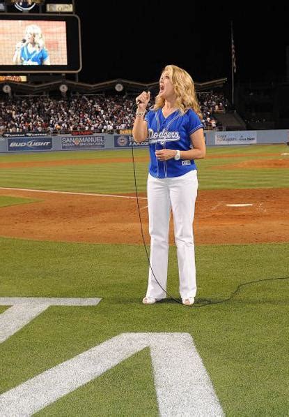
[[[82,132],[81,132],[82,133]],[[289,130],[268,131],[205,131],[208,146],[287,144]],[[43,133],[24,135],[7,134],[0,137],[0,153],[48,152],[89,149],[125,149],[132,146],[147,147],[148,142],[136,143],[130,135],[58,135],[45,136]]]

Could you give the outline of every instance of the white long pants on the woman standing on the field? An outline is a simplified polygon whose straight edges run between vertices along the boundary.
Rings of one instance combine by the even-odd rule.
[[[198,179],[196,170],[173,178],[148,175],[150,270],[146,297],[166,298],[169,221],[173,212],[181,298],[196,295],[193,221]],[[164,290],[157,284],[164,288]]]

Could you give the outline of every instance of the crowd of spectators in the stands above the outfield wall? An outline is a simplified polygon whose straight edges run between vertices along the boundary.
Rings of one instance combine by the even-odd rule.
[[[198,101],[205,129],[219,124],[214,112],[225,112],[229,102],[220,93],[200,93]],[[62,97],[12,96],[0,98],[0,132],[69,133],[74,130],[114,133],[132,129],[135,96],[75,95]]]

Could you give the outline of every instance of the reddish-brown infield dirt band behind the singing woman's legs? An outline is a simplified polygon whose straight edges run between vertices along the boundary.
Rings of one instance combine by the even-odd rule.
[[[0,189],[0,196],[41,200],[0,207],[1,236],[142,244],[136,198],[15,189]],[[139,205],[149,244],[146,198],[139,200]],[[196,244],[289,242],[289,189],[198,191],[194,235]]]

